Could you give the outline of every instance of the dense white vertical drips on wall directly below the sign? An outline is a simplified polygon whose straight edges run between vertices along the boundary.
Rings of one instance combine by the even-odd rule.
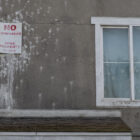
[[[14,81],[14,61],[12,55],[1,56],[1,71],[0,71],[0,108],[4,107],[11,109],[14,104],[12,98],[13,81]],[[2,81],[4,80],[4,82]]]

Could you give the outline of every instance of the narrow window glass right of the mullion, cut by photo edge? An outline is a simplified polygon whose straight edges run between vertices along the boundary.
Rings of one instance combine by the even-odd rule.
[[[135,99],[140,100],[140,27],[133,27]]]

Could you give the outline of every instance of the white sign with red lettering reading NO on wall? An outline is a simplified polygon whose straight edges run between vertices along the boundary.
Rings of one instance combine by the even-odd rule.
[[[0,23],[0,53],[20,54],[22,24]]]

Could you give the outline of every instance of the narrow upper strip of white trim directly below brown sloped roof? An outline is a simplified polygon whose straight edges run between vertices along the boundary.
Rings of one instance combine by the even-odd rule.
[[[128,132],[0,132],[0,136],[132,136],[132,134]]]

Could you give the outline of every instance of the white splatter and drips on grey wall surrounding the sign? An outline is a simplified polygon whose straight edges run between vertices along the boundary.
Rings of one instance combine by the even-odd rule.
[[[0,0],[1,3],[1,0]],[[9,4],[10,3],[10,4]],[[21,0],[18,0],[18,3],[21,3]],[[4,1],[5,6],[10,7],[11,9],[14,8],[14,4],[11,4],[8,0]],[[12,23],[23,23],[23,30],[26,31],[26,36],[23,36],[23,46],[22,46],[22,53],[20,55],[14,54],[0,54],[0,109],[12,109],[16,104],[13,99],[13,84],[14,84],[14,77],[16,72],[24,72],[25,69],[28,67],[31,61],[31,52],[39,43],[39,38],[30,38],[31,34],[35,31],[35,29],[24,20],[24,14],[26,11],[26,7],[30,4],[30,1],[26,1],[23,5],[23,8],[12,12],[11,14],[7,15],[7,17],[1,17],[1,22],[12,22]],[[3,10],[0,7],[0,12]],[[40,8],[41,10],[41,8]],[[33,11],[30,12],[30,14]],[[26,11],[26,14],[29,13]],[[25,14],[25,15],[26,15]],[[32,15],[33,15],[32,14]],[[31,41],[32,40],[32,41]],[[34,42],[36,44],[34,44]],[[43,70],[42,68],[40,70]],[[23,79],[20,80],[20,85],[23,84]],[[18,86],[15,85],[15,89],[18,90]]]

